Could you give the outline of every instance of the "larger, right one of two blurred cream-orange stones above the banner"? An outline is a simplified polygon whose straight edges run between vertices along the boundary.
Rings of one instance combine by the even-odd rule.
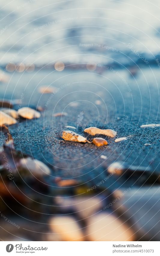
[[[135,241],[134,232],[113,214],[98,213],[89,218],[89,241]]]

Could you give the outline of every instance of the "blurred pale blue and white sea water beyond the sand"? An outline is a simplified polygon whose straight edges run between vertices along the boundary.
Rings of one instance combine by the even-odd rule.
[[[0,65],[151,64],[160,52],[159,11],[159,0],[0,0]]]

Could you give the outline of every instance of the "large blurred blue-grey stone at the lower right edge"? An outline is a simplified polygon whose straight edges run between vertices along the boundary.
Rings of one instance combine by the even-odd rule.
[[[114,195],[114,194],[113,194]],[[141,241],[160,240],[160,188],[131,189],[114,208],[129,220]]]

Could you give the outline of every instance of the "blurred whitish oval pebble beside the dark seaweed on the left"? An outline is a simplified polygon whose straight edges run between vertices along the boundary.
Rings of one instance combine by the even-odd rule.
[[[36,177],[50,174],[50,169],[47,165],[31,157],[20,159],[20,167],[29,170]]]

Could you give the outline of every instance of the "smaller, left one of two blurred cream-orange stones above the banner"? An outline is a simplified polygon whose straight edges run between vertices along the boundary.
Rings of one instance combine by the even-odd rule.
[[[61,236],[62,241],[83,241],[83,232],[72,216],[55,216],[50,220],[51,230]]]

